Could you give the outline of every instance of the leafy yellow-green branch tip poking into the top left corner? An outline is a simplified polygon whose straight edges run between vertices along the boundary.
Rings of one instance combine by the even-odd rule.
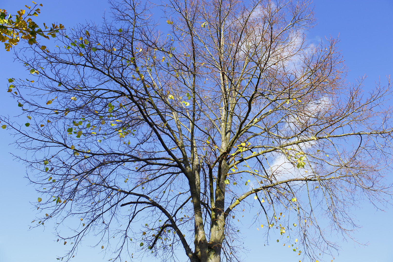
[[[33,2],[34,6],[26,6],[26,10],[20,9],[17,11],[17,15],[8,14],[5,9],[0,9],[0,40],[4,42],[7,51],[10,51],[13,46],[16,46],[20,39],[28,40],[29,44],[37,44],[37,35],[49,39],[56,37],[56,33],[59,30],[64,29],[62,24],[52,24],[51,27],[47,27],[44,23],[44,30],[42,30],[29,16],[38,16],[41,12],[37,8],[38,4]],[[42,6],[42,4],[39,4]],[[15,16],[15,21],[13,20]],[[44,50],[46,46],[41,46]]]

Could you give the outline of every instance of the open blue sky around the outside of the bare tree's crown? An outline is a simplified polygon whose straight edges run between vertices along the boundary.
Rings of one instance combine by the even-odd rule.
[[[42,14],[37,18],[41,22],[60,22],[72,27],[85,20],[101,22],[101,17],[108,11],[108,4],[102,0],[68,0],[41,2],[44,4]],[[0,8],[15,13],[29,1],[1,1]],[[367,75],[365,90],[372,90],[379,77],[386,83],[386,75],[393,75],[393,1],[392,0],[315,0],[315,13],[318,24],[307,35],[310,42],[318,42],[325,36],[337,37],[340,34],[340,49],[349,68],[348,81]],[[10,77],[27,75],[24,68],[13,62],[12,53],[0,50],[2,64],[0,66],[0,83],[4,86],[1,114],[15,116],[19,110],[17,102],[5,92]],[[10,153],[19,154],[18,150],[9,145],[13,137],[6,130],[0,132],[0,262],[54,262],[64,251],[64,246],[54,240],[52,228],[44,231],[34,229],[28,231],[29,223],[35,218],[35,209],[29,203],[37,200],[37,193],[24,176],[26,170],[22,163],[13,160]],[[393,181],[389,174],[389,181]],[[354,214],[363,227],[355,235],[366,247],[354,245],[352,240],[343,242],[343,250],[334,261],[357,262],[393,262],[391,255],[391,221],[393,209],[376,212],[369,203],[355,210]],[[283,248],[281,242],[272,241],[270,246],[259,242],[261,232],[256,228],[246,229],[247,237],[244,246],[250,249],[244,258],[248,261],[264,262],[297,262],[294,252]],[[273,239],[273,238],[272,238]],[[102,260],[101,249],[85,246],[79,248],[75,262],[107,261]],[[356,247],[356,248],[355,248]],[[325,258],[330,261],[330,258]],[[150,259],[149,259],[150,260]],[[148,261],[148,260],[145,260]]]

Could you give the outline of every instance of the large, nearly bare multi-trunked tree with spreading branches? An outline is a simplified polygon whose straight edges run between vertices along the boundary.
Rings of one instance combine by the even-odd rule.
[[[391,196],[391,91],[346,84],[338,40],[306,44],[313,22],[301,1],[113,2],[102,25],[22,49],[36,79],[9,87],[30,121],[0,120],[42,192],[36,226],[57,223],[68,258],[92,232],[116,259],[235,261],[254,208],[266,239],[334,251],[353,205]]]

